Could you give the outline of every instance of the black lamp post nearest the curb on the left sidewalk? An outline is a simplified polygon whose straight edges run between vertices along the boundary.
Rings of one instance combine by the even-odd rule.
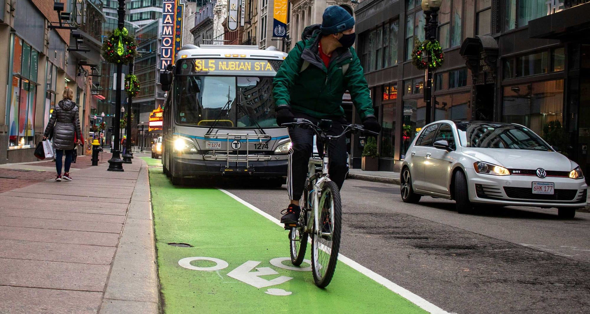
[[[118,27],[119,29],[123,29],[125,27],[125,0],[119,0],[119,9],[117,10],[117,15],[119,17]],[[113,143],[113,157],[109,160],[109,168],[108,171],[124,171],[123,170],[123,160],[121,160],[121,155],[119,151],[119,132],[120,130],[120,120],[121,120],[121,76],[123,72],[123,65],[119,62],[117,63],[117,81],[116,81],[116,92],[115,92],[115,110],[114,110],[114,123],[113,123],[113,133],[114,133],[114,143]]]

